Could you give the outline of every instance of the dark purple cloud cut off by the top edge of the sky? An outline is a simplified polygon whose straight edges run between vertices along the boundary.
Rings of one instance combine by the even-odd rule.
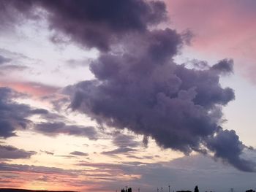
[[[14,12],[25,18],[46,17],[50,28],[57,31],[53,41],[59,41],[58,34],[62,32],[80,45],[99,50],[108,50],[124,34],[146,31],[148,26],[166,18],[165,4],[161,1],[2,0],[1,6],[4,8],[0,12],[5,12],[1,15]],[[42,15],[37,7],[45,9],[47,14]],[[4,18],[5,23],[6,20],[17,23],[13,17]]]

